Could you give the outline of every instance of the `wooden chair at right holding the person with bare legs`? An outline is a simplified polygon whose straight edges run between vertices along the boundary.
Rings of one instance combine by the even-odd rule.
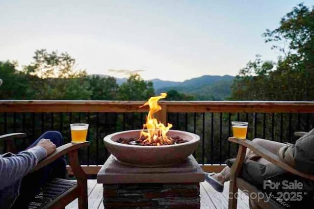
[[[306,132],[295,132],[294,134],[296,136],[302,136],[305,133]],[[229,188],[230,196],[231,195],[234,196],[233,194],[235,194],[237,192],[237,189],[240,189],[242,191],[247,191],[248,195],[253,193],[253,192],[255,192],[255,193],[262,192],[260,189],[258,189],[257,187],[255,187],[251,183],[248,183],[247,181],[245,181],[244,179],[239,177],[239,174],[241,172],[241,168],[242,168],[242,165],[244,162],[245,152],[246,152],[247,148],[252,150],[257,155],[265,158],[269,162],[279,166],[280,168],[282,168],[282,169],[284,169],[284,170],[286,170],[286,171],[288,171],[294,175],[298,175],[300,177],[314,181],[314,175],[305,174],[305,173],[302,173],[298,170],[295,170],[294,168],[292,168],[288,164],[281,161],[277,155],[269,152],[268,150],[266,150],[265,148],[263,148],[262,146],[260,146],[256,143],[252,142],[251,140],[240,140],[240,139],[236,139],[234,137],[229,137],[228,140],[239,145],[237,156],[235,159],[235,163],[231,167],[230,188]],[[286,209],[286,208],[289,208],[289,206],[290,206],[289,202],[279,201],[279,200],[276,200],[276,198],[271,198],[268,202],[266,202],[266,199],[264,199],[264,200],[254,199],[254,200],[250,200],[250,201],[254,201],[254,203],[256,203],[258,205],[258,207],[260,207],[262,209]],[[236,204],[237,204],[236,198],[229,198],[229,204],[228,204],[229,209],[236,209]]]

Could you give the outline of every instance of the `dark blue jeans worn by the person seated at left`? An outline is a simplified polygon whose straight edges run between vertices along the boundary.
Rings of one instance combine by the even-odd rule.
[[[63,144],[63,137],[59,131],[47,131],[42,134],[34,143],[27,149],[36,146],[41,139],[50,139],[50,141],[59,147]],[[28,207],[29,202],[39,193],[40,188],[49,182],[52,178],[66,177],[66,160],[60,157],[49,165],[28,174],[22,179],[20,187],[20,195],[18,196],[13,209],[24,209]]]

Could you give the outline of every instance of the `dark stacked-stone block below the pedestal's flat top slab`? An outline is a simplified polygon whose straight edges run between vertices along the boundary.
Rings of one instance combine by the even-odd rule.
[[[199,209],[199,183],[104,184],[105,209]]]

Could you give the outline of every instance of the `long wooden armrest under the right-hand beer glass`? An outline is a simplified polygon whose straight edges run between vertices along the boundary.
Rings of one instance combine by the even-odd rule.
[[[306,178],[306,179],[314,180],[314,175],[305,174],[305,173],[302,173],[302,172],[294,169],[290,165],[281,161],[281,159],[277,155],[269,152],[268,150],[263,148],[261,145],[254,143],[251,140],[236,139],[234,137],[229,137],[228,140],[252,150],[255,154],[259,155],[260,157],[265,158],[269,162],[279,166],[280,168],[282,168],[282,169],[284,169],[284,170],[286,170],[292,174],[301,176],[301,177]]]

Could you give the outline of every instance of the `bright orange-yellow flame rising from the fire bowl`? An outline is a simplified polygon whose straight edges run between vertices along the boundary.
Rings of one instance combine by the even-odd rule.
[[[168,138],[167,132],[171,129],[172,124],[168,123],[167,126],[163,125],[160,121],[158,122],[154,118],[154,114],[161,110],[161,106],[158,104],[158,100],[166,98],[166,93],[161,93],[160,96],[151,97],[148,102],[140,107],[149,105],[149,112],[146,116],[146,124],[143,125],[140,138],[145,137],[143,143],[153,145],[172,144],[172,140]],[[145,130],[147,129],[147,130]]]

